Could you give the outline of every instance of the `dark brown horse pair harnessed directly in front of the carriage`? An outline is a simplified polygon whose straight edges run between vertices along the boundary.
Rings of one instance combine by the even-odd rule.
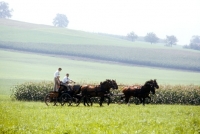
[[[115,80],[105,80],[101,82],[100,85],[83,85],[81,87],[82,97],[84,97],[84,105],[87,100],[90,100],[91,97],[100,97],[99,105],[102,106],[104,98],[108,98],[108,105],[110,104],[110,89],[118,89],[118,85]]]

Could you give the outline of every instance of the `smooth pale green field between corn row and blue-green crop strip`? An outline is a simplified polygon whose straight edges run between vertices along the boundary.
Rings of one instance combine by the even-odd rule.
[[[200,73],[164,70],[122,64],[79,61],[74,59],[0,50],[0,94],[10,94],[12,85],[33,81],[53,81],[53,73],[62,67],[78,83],[97,83],[115,79],[118,84],[144,84],[157,79],[158,84],[199,85]]]

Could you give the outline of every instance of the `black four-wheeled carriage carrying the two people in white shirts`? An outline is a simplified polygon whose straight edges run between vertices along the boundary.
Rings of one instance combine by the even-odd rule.
[[[65,85],[60,85],[58,92],[50,91],[44,98],[47,106],[68,105],[76,104],[81,98],[80,85],[71,86],[69,90]]]

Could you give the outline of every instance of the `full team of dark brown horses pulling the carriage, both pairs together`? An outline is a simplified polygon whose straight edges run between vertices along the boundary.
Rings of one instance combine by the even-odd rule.
[[[125,103],[129,104],[129,100],[131,97],[137,97],[140,102],[145,105],[145,98],[149,98],[151,100],[151,97],[149,96],[150,93],[155,94],[155,89],[158,89],[159,85],[157,81],[149,80],[146,81],[144,85],[132,85],[132,86],[124,86],[122,88],[122,96],[121,96],[121,102],[125,99]],[[83,104],[86,106],[92,106],[92,100],[93,97],[100,98],[99,105],[102,106],[105,98],[108,99],[107,104],[109,105],[111,102],[111,89],[117,90],[118,85],[116,80],[107,79],[103,82],[100,82],[99,85],[73,85],[71,87],[70,95],[75,97],[77,99],[77,106],[80,104],[81,100],[83,99]],[[60,85],[59,94],[62,92],[68,90],[68,88],[64,85]],[[90,104],[89,104],[89,103]]]

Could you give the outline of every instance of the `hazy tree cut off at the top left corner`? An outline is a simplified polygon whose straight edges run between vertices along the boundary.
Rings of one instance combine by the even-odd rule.
[[[1,1],[0,2],[0,18],[10,18],[12,17],[11,12],[13,10],[9,10],[8,3]]]

